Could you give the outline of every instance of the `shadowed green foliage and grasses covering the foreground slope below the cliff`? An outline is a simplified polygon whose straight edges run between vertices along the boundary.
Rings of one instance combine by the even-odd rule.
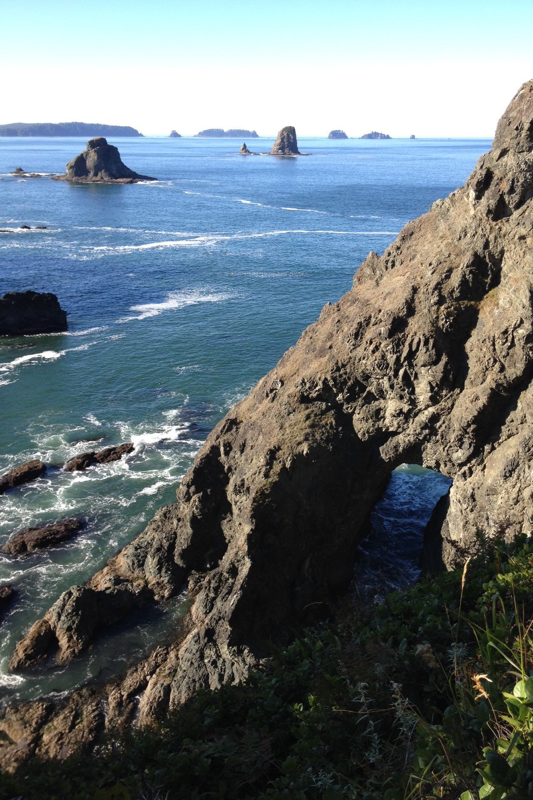
[[[352,598],[159,726],[3,774],[0,798],[533,798],[533,543],[483,550],[382,605]]]

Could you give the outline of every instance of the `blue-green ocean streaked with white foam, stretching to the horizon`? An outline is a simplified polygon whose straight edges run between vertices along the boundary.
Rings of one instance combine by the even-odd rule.
[[[7,694],[64,690],[110,658],[125,663],[149,645],[154,625],[164,629],[164,620],[139,619],[126,643],[118,630],[68,678],[7,670],[14,643],[58,595],[174,500],[215,422],[324,303],[350,289],[369,250],[383,253],[490,148],[487,140],[301,139],[310,158],[242,158],[241,142],[228,139],[110,142],[158,182],[21,180],[10,170],[62,172],[83,140],[0,139],[0,228],[11,230],[0,234],[0,294],[52,291],[69,313],[67,334],[0,340],[0,474],[28,458],[52,465],[0,497],[0,543],[23,526],[71,515],[87,522],[60,549],[0,557],[0,583],[18,588],[0,628]],[[270,146],[254,140],[253,149]],[[120,462],[60,468],[83,450],[126,441],[135,450]],[[415,514],[427,518],[446,487],[410,475],[399,492],[425,498]]]

